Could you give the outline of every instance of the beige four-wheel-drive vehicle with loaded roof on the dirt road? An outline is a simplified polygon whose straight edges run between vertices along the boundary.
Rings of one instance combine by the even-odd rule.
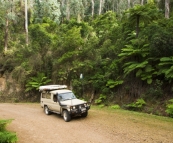
[[[44,108],[46,115],[51,112],[63,116],[66,122],[71,120],[72,116],[86,117],[90,109],[89,103],[79,100],[66,85],[45,85],[40,86],[41,107]]]

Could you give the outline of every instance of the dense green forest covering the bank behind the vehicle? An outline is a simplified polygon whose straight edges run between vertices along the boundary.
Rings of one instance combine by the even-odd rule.
[[[1,102],[39,101],[40,85],[66,84],[93,104],[173,115],[171,6],[0,0]]]

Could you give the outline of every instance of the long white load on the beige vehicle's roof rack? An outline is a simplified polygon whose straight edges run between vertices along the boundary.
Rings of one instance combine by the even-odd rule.
[[[39,91],[50,91],[67,88],[67,85],[44,85],[39,87]]]

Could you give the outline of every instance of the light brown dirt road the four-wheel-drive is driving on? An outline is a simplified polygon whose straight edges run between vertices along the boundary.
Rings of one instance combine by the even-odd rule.
[[[8,129],[18,143],[173,143],[173,123],[139,120],[115,112],[90,109],[87,118],[65,122],[45,115],[39,104],[0,104],[0,119],[14,119]]]

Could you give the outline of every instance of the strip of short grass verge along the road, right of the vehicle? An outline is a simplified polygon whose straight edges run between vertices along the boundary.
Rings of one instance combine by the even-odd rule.
[[[170,133],[173,132],[173,119],[169,117],[163,117],[153,114],[146,114],[136,111],[128,111],[122,109],[113,109],[111,107],[102,107],[99,106],[92,106],[92,111],[94,113],[100,113],[109,117],[111,114],[115,115],[115,121],[126,121],[126,124],[138,124],[140,127],[149,127],[150,132],[152,129],[154,130],[165,130],[169,131]],[[101,117],[100,117],[101,118]],[[123,124],[123,123],[122,123]],[[125,123],[124,123],[125,124]],[[130,129],[129,129],[130,130]],[[152,132],[151,132],[152,134]]]

